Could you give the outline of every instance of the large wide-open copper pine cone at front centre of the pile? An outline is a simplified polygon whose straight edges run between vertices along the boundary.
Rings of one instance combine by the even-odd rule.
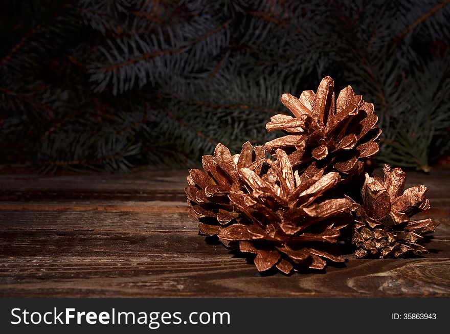
[[[352,201],[332,196],[339,173],[323,175],[323,170],[310,168],[299,176],[283,150],[277,149],[276,156],[278,161],[268,160],[271,167],[261,177],[239,168],[248,193],[232,189],[228,196],[245,219],[222,228],[219,239],[238,241],[241,252],[256,254],[258,271],[275,266],[289,274],[324,269],[324,258],[344,262],[334,243],[352,220]]]

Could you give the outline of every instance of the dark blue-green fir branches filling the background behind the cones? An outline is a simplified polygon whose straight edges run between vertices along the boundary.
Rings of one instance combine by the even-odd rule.
[[[378,162],[447,164],[450,1],[2,1],[0,163],[198,164],[276,136],[330,75],[373,102]],[[279,133],[278,133],[279,135]]]

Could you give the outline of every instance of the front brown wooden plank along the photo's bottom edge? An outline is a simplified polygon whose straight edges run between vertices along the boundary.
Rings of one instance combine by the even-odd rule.
[[[285,277],[259,274],[195,231],[15,231],[0,240],[0,296],[449,297],[448,232],[438,228],[425,257],[348,255],[326,274]]]

